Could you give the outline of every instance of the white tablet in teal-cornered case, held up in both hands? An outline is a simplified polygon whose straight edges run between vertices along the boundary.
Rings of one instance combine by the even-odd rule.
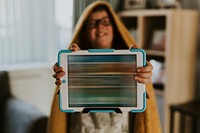
[[[143,112],[145,85],[134,80],[137,68],[146,65],[142,49],[61,50],[59,106],[62,112]]]

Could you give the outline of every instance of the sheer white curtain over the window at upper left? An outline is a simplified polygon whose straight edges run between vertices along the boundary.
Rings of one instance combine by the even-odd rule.
[[[71,35],[66,1],[0,0],[0,65],[54,60]]]

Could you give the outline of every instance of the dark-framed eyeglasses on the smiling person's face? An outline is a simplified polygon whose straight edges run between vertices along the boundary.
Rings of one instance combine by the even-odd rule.
[[[94,28],[97,28],[99,26],[99,24],[101,24],[103,26],[109,26],[109,25],[111,25],[111,21],[110,21],[109,17],[104,17],[102,19],[97,19],[97,20],[89,20],[87,22],[87,27],[90,29],[94,29]]]

